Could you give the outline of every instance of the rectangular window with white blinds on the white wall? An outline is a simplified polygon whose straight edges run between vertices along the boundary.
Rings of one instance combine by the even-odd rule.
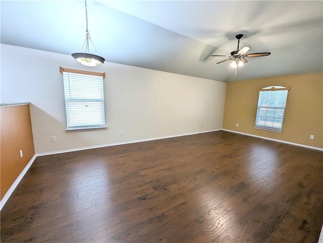
[[[104,73],[60,67],[64,79],[67,130],[105,128]]]

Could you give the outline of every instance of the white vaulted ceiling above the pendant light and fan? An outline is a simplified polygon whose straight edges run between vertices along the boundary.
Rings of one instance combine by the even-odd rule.
[[[236,81],[323,71],[322,1],[87,0],[88,28],[108,62]],[[72,54],[85,40],[84,1],[1,0],[1,43]],[[249,53],[238,68],[216,64],[237,49]],[[91,50],[92,48],[92,50]],[[72,58],[72,57],[71,57]],[[104,65],[104,64],[103,64]],[[95,68],[94,68],[95,69]]]

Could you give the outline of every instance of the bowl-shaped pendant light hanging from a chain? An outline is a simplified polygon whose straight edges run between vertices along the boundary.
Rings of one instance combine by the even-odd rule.
[[[86,0],[85,0],[85,16],[86,16],[86,32],[85,32],[85,41],[82,47],[81,52],[83,51],[84,45],[85,45],[85,53],[73,53],[72,57],[75,58],[76,61],[78,61],[80,64],[83,64],[85,66],[89,67],[95,67],[100,65],[105,61],[104,58],[94,55],[94,54],[89,54],[89,41],[93,45],[94,49],[95,46],[91,40],[88,28],[87,28],[87,7],[86,7]],[[96,49],[95,49],[96,51]]]

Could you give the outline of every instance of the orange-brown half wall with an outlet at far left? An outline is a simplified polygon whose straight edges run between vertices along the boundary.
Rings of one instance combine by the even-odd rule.
[[[35,155],[29,105],[2,106],[1,115],[1,200]],[[20,150],[23,157],[20,157]]]

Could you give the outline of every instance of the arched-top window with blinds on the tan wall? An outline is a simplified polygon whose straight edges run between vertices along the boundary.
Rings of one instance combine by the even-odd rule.
[[[282,131],[289,87],[273,86],[259,89],[254,128]]]

